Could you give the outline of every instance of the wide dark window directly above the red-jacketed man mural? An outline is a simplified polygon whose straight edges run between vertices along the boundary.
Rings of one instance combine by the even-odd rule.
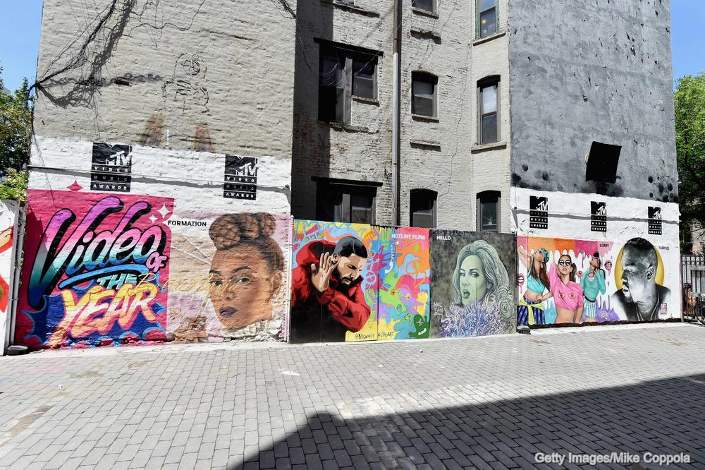
[[[323,222],[343,222],[348,224],[369,224],[376,222],[377,188],[379,183],[367,183],[362,181],[331,180],[325,178],[313,178],[316,181],[316,219]],[[341,213],[345,214],[341,220],[336,217],[328,217],[329,211],[324,207],[326,200],[324,196],[341,195]],[[365,222],[353,221],[353,195],[364,195],[370,199],[370,220]],[[334,211],[333,211],[334,212]]]

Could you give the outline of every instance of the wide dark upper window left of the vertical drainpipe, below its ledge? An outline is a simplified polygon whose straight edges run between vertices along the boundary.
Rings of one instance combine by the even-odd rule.
[[[328,123],[350,124],[352,119],[353,97],[360,100],[377,101],[377,75],[379,73],[379,57],[381,52],[361,47],[348,46],[337,42],[326,40],[316,40],[319,43],[319,80],[318,80],[318,119]],[[331,85],[324,84],[324,77],[328,71],[324,71],[325,58],[335,58],[337,65],[341,67],[343,86],[341,99],[343,103],[338,105],[338,97],[336,93],[336,104],[333,109],[326,109],[326,105],[321,101],[324,95],[324,88],[333,88]],[[364,66],[372,65],[372,97],[355,95],[355,64],[364,64]],[[337,87],[336,87],[337,88]],[[338,106],[341,106],[339,109]],[[331,116],[333,119],[331,119]]]

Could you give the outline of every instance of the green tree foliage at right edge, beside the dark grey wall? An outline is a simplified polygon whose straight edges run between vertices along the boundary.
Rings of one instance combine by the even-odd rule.
[[[675,142],[681,223],[705,227],[705,72],[678,80]]]

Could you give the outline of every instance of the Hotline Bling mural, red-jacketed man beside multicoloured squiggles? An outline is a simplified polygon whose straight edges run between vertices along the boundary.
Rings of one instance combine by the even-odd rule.
[[[290,340],[427,338],[427,229],[297,220]]]

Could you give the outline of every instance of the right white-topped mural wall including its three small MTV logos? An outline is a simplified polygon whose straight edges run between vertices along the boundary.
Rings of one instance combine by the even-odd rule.
[[[513,188],[517,322],[680,318],[678,204]]]

